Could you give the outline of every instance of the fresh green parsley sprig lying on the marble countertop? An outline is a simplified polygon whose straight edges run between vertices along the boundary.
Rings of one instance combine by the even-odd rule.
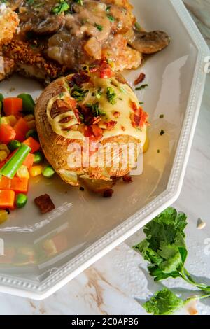
[[[197,283],[185,268],[188,256],[184,232],[186,225],[186,214],[178,213],[176,209],[169,207],[146,225],[144,229],[146,239],[134,246],[134,249],[140,251],[144,259],[149,262],[148,270],[155,281],[179,277],[206,293],[206,295],[188,298],[183,304],[192,299],[210,297],[210,286]],[[162,308],[167,309],[170,313],[171,304],[174,304],[175,308],[181,307],[181,301],[178,301],[175,298],[176,295],[172,294],[172,292],[169,293],[169,290],[162,290],[144,304],[144,307],[147,311],[153,309],[153,314],[158,314],[158,312],[164,314]],[[155,309],[154,303],[157,309]]]

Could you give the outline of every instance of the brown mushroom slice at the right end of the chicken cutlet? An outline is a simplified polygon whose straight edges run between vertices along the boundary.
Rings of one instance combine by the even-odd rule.
[[[127,43],[142,54],[153,54],[169,45],[170,38],[162,31],[134,31],[130,30],[126,34]]]

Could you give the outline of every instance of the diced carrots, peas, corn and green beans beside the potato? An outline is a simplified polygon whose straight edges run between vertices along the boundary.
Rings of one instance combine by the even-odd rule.
[[[0,224],[10,210],[25,207],[30,177],[52,177],[36,132],[34,99],[29,94],[0,94]]]

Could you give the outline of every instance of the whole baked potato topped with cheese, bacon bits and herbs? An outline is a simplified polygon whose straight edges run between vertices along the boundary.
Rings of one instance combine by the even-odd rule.
[[[57,174],[96,192],[128,174],[146,142],[147,113],[106,61],[48,85],[35,117],[43,152]]]

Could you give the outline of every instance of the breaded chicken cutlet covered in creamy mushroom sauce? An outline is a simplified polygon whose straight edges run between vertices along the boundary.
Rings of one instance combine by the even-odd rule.
[[[113,62],[116,71],[137,69],[144,54],[169,45],[165,32],[141,29],[129,0],[6,3],[20,25],[12,42],[3,41],[3,56],[15,61],[15,71],[39,80],[49,82],[101,59]]]

